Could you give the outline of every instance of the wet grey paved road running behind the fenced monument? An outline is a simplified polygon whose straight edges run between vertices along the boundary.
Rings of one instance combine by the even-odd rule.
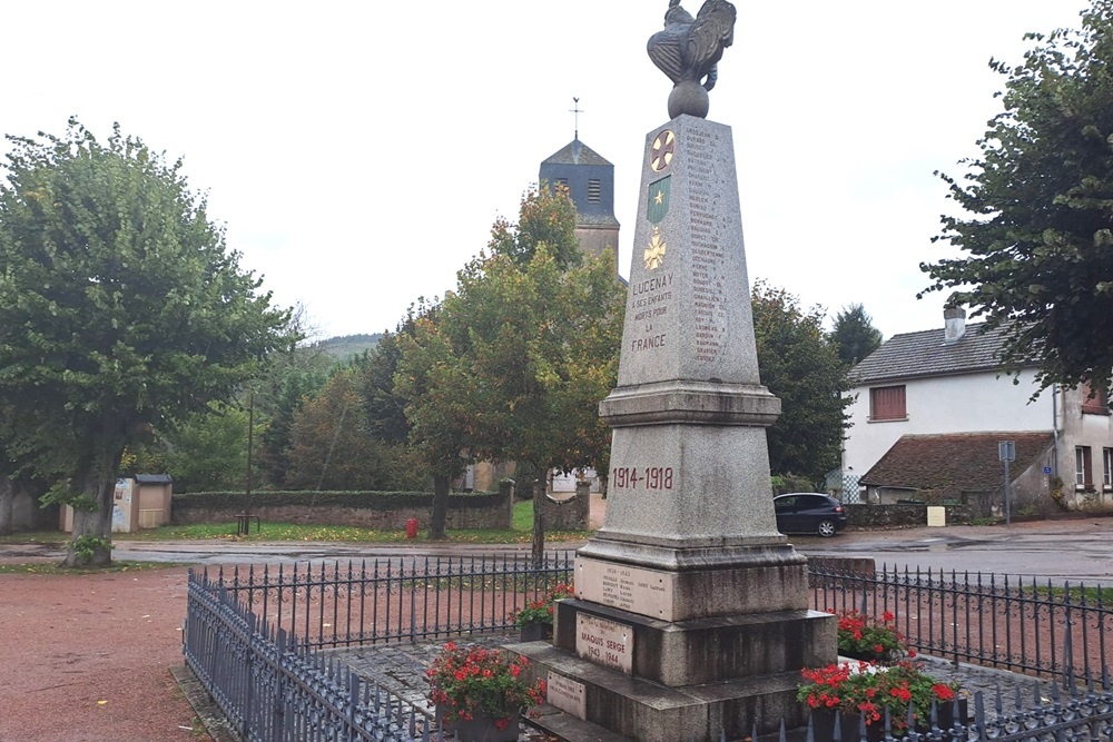
[[[946,526],[895,531],[848,531],[834,538],[792,535],[815,556],[858,556],[900,570],[955,570],[1101,583],[1113,587],[1113,517],[1020,523],[1012,526]],[[582,542],[554,543],[577,548]],[[412,555],[528,553],[529,544],[352,545],[260,542],[118,541],[120,560],[201,565],[276,564],[290,561],[388,558]],[[60,557],[53,547],[0,545],[0,558]]]

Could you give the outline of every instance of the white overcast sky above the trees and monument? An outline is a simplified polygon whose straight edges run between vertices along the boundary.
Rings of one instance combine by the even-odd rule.
[[[693,14],[698,0],[684,0]],[[1077,27],[1086,0],[736,0],[709,119],[733,129],[750,278],[863,303],[886,337],[917,300],[958,160],[997,112],[991,58]],[[243,267],[322,337],[393,329],[453,287],[573,137],[615,167],[629,274],[646,132],[669,80],[667,0],[0,1],[0,131],[114,121],[184,157]],[[2,146],[7,149],[7,142]]]

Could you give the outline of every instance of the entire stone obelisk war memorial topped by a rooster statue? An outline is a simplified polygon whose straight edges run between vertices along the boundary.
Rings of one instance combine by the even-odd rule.
[[[806,723],[799,671],[836,660],[834,616],[777,532],[730,127],[705,119],[736,11],[670,0],[649,56],[673,82],[646,137],[607,523],[579,551],[553,644],[516,644],[549,702],[641,742]]]

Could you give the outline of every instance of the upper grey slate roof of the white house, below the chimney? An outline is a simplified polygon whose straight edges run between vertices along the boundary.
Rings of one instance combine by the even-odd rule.
[[[966,325],[966,334],[953,345],[944,344],[942,327],[894,335],[854,367],[850,379],[855,384],[873,384],[998,369],[1007,327],[983,332],[984,328],[984,323]]]

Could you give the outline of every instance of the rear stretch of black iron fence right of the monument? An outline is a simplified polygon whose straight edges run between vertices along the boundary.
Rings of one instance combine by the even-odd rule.
[[[892,613],[912,647],[955,662],[1096,677],[1113,661],[1113,590],[868,564],[810,562],[812,607]]]

